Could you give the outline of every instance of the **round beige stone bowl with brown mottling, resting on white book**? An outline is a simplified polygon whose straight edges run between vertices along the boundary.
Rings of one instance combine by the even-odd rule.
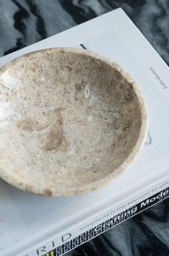
[[[133,163],[146,133],[142,92],[103,56],[50,48],[0,69],[0,176],[15,187],[91,192]]]

